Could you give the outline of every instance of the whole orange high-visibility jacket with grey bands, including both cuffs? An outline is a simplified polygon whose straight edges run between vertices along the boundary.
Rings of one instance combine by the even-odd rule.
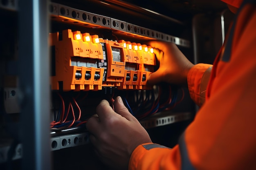
[[[204,104],[174,148],[147,143],[132,152],[129,170],[256,170],[256,0],[242,4],[211,65],[197,64],[189,91]],[[202,83],[201,83],[202,82]]]

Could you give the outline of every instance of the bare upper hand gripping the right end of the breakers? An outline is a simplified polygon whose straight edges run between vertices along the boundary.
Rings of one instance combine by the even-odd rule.
[[[174,43],[162,41],[150,41],[147,44],[154,48],[154,53],[160,62],[159,69],[148,77],[147,83],[187,84],[187,75],[194,64],[178,47]]]

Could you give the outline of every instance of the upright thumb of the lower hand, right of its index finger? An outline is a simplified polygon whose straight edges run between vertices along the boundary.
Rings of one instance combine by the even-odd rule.
[[[120,96],[117,96],[115,98],[114,108],[115,108],[115,112],[118,113],[119,115],[121,115],[122,117],[125,117],[128,120],[134,119],[132,114],[129,112],[129,110],[124,105],[124,102]]]

